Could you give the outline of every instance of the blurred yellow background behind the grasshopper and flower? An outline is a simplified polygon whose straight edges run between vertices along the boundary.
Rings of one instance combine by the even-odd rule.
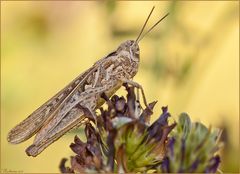
[[[135,39],[152,6],[148,27],[170,12],[140,42],[135,81],[148,101],[169,106],[177,119],[223,128],[220,169],[239,164],[239,2],[1,2],[1,170],[59,172],[76,134],[36,158],[6,141],[8,131],[95,61]],[[121,91],[120,91],[121,93]],[[81,130],[81,129],[79,129]],[[238,154],[238,155],[237,155]]]

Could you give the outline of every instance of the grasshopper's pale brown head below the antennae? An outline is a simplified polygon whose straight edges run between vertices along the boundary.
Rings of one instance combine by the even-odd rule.
[[[118,47],[117,52],[124,56],[127,56],[130,61],[139,62],[139,46],[134,40],[127,40]]]

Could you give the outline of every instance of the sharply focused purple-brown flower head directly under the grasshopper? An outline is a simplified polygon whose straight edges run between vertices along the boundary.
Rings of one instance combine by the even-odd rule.
[[[134,93],[134,87],[125,85],[127,99],[106,95],[107,109],[100,108],[97,124],[88,122],[85,127],[87,142],[77,136],[70,145],[76,156],[71,157],[71,168],[61,172],[146,172],[159,165],[166,154],[169,132],[176,123],[168,124],[167,107],[149,125],[152,109],[156,102],[142,109]]]

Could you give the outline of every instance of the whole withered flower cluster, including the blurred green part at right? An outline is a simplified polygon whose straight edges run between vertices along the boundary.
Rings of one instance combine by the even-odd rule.
[[[71,168],[62,173],[82,172],[216,172],[220,158],[218,134],[201,123],[191,123],[186,114],[179,124],[169,124],[170,113],[162,107],[162,114],[150,124],[156,102],[142,108],[134,87],[125,84],[127,97],[103,93],[107,109],[100,108],[96,123],[89,117],[85,126],[87,141],[77,136],[70,148]],[[176,126],[177,125],[177,126]]]

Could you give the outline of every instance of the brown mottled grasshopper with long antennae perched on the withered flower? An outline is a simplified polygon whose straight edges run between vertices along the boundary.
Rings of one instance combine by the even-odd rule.
[[[168,16],[166,14],[143,34],[153,10],[154,7],[136,40],[123,42],[116,51],[98,60],[14,127],[7,140],[18,144],[36,134],[33,144],[26,149],[27,155],[35,157],[66,132],[83,124],[86,119],[95,120],[96,123],[95,110],[104,103],[101,95],[104,93],[110,97],[123,83],[140,89],[147,106],[142,86],[132,79],[138,71],[140,61],[139,41]]]

